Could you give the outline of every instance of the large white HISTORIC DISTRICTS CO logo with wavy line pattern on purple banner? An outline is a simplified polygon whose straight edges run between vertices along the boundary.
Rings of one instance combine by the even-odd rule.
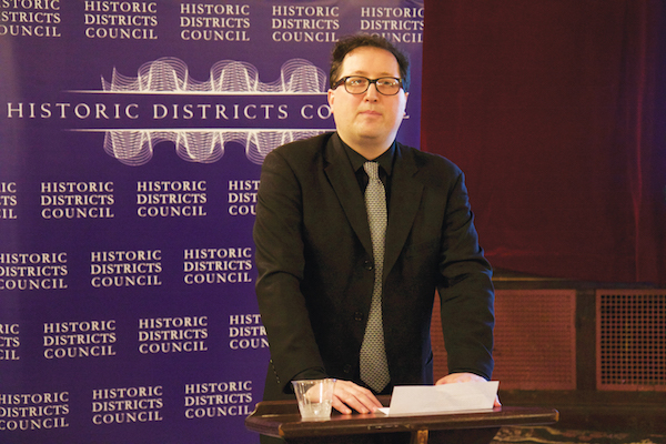
[[[176,58],[147,62],[137,77],[113,69],[102,90],[67,91],[75,99],[8,102],[8,119],[68,122],[69,131],[103,132],[104,151],[120,162],[148,163],[171,142],[189,162],[213,163],[230,142],[261,164],[274,148],[333,130],[326,73],[304,59],[286,61],[278,80],[262,82],[248,62],[222,60],[198,81]]]

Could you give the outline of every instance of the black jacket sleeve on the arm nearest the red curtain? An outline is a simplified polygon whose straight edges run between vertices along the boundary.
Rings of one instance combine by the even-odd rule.
[[[442,327],[451,373],[493,373],[494,289],[478,245],[464,175],[448,192],[440,259]]]

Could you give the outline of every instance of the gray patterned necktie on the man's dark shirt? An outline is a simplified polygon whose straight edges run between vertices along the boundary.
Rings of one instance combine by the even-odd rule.
[[[384,347],[382,321],[382,273],[384,270],[384,243],[386,238],[386,192],[380,180],[377,162],[365,162],[363,168],[370,178],[365,189],[365,208],[372,236],[375,280],[372,304],[367,315],[365,336],[361,345],[361,380],[375,392],[381,392],[391,376]]]

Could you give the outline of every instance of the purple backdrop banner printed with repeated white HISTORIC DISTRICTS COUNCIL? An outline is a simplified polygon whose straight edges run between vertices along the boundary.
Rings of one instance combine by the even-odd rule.
[[[0,0],[0,442],[256,443],[263,158],[333,129],[329,53],[423,1]]]

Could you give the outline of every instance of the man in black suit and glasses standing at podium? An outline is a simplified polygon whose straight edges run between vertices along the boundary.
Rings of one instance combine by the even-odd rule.
[[[395,141],[407,59],[371,36],[339,41],[332,59],[336,132],[280,147],[262,167],[254,240],[271,350],[264,400],[293,398],[293,380],[329,376],[335,410],[367,413],[395,385],[432,384],[435,290],[451,371],[436,383],[490,380],[492,271],[463,174]],[[364,198],[371,189],[381,198]]]

